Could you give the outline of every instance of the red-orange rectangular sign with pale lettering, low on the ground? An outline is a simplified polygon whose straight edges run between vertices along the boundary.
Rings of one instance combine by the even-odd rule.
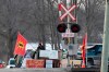
[[[45,60],[26,60],[26,68],[44,68]]]

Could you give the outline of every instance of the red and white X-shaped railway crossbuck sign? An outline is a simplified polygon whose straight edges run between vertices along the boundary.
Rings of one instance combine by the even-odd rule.
[[[73,4],[71,8],[66,9],[62,3],[59,4],[59,11],[63,9],[65,13],[60,16],[60,20],[62,21],[65,16],[70,16],[72,21],[76,21],[76,19],[71,14],[71,12],[76,8],[75,4]]]

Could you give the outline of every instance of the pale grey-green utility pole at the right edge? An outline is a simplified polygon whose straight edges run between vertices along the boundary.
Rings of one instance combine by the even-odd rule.
[[[100,72],[108,72],[108,58],[109,58],[108,52],[109,52],[109,0],[106,0],[104,41],[102,41],[102,55],[101,55],[101,70],[100,70]]]

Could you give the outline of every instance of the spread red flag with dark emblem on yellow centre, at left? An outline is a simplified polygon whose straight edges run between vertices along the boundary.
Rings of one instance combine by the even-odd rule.
[[[16,44],[15,44],[14,55],[24,56],[26,44],[27,40],[19,33]]]

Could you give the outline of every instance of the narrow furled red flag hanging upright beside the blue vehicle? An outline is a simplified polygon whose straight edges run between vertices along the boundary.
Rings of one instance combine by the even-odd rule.
[[[82,68],[85,68],[85,55],[86,55],[86,45],[87,45],[87,33],[85,34],[85,37],[83,38],[83,46],[82,46]]]

